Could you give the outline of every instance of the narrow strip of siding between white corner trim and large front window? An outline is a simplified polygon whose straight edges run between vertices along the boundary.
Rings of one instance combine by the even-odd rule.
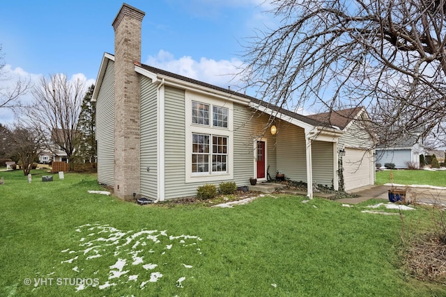
[[[161,119],[162,121],[162,119]],[[197,186],[185,184],[185,93],[164,90],[165,199],[195,195]]]

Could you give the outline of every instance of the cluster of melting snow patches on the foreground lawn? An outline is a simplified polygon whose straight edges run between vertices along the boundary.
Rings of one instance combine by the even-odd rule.
[[[89,287],[102,290],[112,286],[129,285],[129,281],[136,282],[137,287],[141,289],[150,287],[153,282],[160,282],[161,280],[169,282],[168,279],[170,278],[163,278],[163,270],[171,271],[172,265],[181,265],[187,270],[193,268],[190,264],[175,264],[172,262],[175,261],[175,257],[178,257],[172,257],[172,255],[176,255],[172,254],[172,250],[178,252],[178,248],[184,248],[187,252],[195,252],[201,255],[201,250],[197,247],[197,243],[201,241],[199,236],[169,235],[167,230],[122,231],[109,225],[100,225],[97,222],[76,227],[75,232],[79,233],[76,248],[61,250],[62,253],[68,255],[75,254],[75,257],[66,259],[61,264],[75,264],[71,269],[79,273],[79,278],[84,277],[80,273],[86,273],[86,271],[89,271],[89,267],[95,266],[94,262],[98,261],[98,258],[114,259],[114,262],[109,264],[108,273],[103,269],[93,273],[95,278],[100,280],[99,285],[83,283],[75,287],[75,291],[85,290]],[[192,246],[194,246],[193,249],[191,249]],[[166,258],[162,263],[153,263],[154,260],[160,261],[160,255],[164,254],[166,256],[162,257]],[[98,265],[103,266],[104,259]],[[168,260],[166,261],[166,259]],[[87,264],[86,262],[93,263]],[[147,272],[141,273],[139,267],[144,268],[144,271]],[[155,268],[157,268],[157,271],[151,272],[149,275],[148,271],[153,271]],[[176,286],[183,287],[182,282],[185,279],[185,276],[181,276],[176,282]],[[110,282],[110,280],[114,282]],[[132,286],[130,285],[130,287]]]

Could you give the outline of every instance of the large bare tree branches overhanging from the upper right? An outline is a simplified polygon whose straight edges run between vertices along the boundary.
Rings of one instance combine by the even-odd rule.
[[[445,0],[274,0],[246,45],[247,86],[278,106],[364,106],[378,134],[429,134],[446,115]]]

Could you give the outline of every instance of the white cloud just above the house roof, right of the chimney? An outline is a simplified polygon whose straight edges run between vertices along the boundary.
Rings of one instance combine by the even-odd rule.
[[[176,59],[168,51],[160,50],[156,56],[148,56],[144,64],[222,88],[237,88],[240,81],[237,73],[240,72],[243,62],[237,58],[216,61],[202,57],[195,61],[190,56],[183,56]]]

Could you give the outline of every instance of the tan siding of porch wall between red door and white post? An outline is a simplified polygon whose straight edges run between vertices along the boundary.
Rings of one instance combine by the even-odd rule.
[[[307,182],[304,129],[282,121],[277,126],[277,138],[277,170],[285,178]]]

